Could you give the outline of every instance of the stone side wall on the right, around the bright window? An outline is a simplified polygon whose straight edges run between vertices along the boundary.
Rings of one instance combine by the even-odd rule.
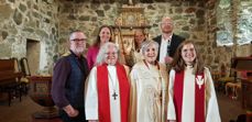
[[[230,20],[229,16],[220,16],[220,11],[218,9],[219,0],[209,0],[207,3],[207,42],[205,48],[207,52],[202,55],[205,64],[216,73],[220,71],[220,67],[230,67],[230,60],[233,55],[232,46],[218,46],[217,44],[217,31],[220,30],[218,24],[220,19],[226,19],[223,23],[228,23]],[[231,12],[232,13],[232,12]],[[230,14],[231,15],[231,14]],[[231,37],[232,38],[232,37]],[[229,74],[229,69],[227,68],[227,75]]]

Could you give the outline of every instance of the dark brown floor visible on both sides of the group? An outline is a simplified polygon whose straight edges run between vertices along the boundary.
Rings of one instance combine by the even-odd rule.
[[[217,93],[218,103],[220,108],[220,115],[222,122],[235,120],[239,114],[244,114],[245,111],[241,109],[239,100],[232,100],[223,93]],[[11,107],[7,101],[0,101],[0,122],[59,122],[56,120],[34,120],[32,115],[34,112],[42,110],[42,107],[33,102],[29,96],[12,100]]]

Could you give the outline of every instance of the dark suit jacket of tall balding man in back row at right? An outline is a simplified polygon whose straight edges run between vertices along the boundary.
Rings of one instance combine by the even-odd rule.
[[[158,35],[158,36],[154,37],[153,40],[160,44],[158,54],[157,54],[157,58],[156,58],[156,59],[158,60],[158,59],[160,59],[160,52],[161,52],[162,35]],[[178,45],[179,45],[183,41],[185,41],[184,37],[182,37],[182,36],[179,36],[179,35],[176,35],[176,34],[173,34],[173,36],[172,36],[172,42],[171,42],[171,48],[169,48],[169,52],[168,52],[168,54],[169,54],[171,57],[174,57],[175,52],[176,52]]]

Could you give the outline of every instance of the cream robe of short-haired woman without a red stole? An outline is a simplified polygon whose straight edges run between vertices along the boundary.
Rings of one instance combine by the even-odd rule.
[[[167,101],[167,71],[165,65],[136,63],[130,74],[130,122],[164,122]]]

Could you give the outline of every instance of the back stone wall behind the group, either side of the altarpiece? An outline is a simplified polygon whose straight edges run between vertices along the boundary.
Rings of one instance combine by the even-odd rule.
[[[205,2],[172,1],[138,3],[143,7],[144,15],[152,27],[149,30],[149,37],[158,34],[160,21],[164,15],[173,18],[175,22],[175,33],[197,42],[204,46],[207,42],[205,22]],[[102,24],[114,25],[114,20],[119,15],[121,3],[73,3],[63,2],[59,9],[59,55],[63,54],[70,30],[79,29],[88,34],[88,45],[91,45],[98,35],[98,29]],[[206,52],[202,49],[202,52]]]

